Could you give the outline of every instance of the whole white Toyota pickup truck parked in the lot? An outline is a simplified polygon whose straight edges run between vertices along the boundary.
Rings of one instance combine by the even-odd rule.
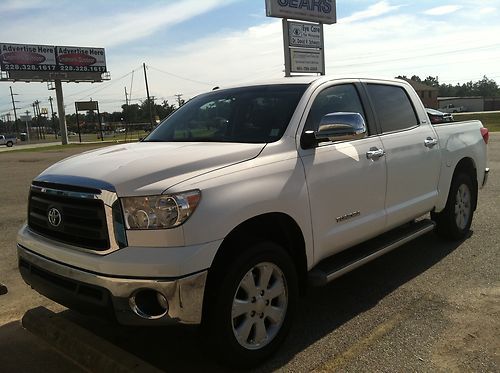
[[[432,126],[399,80],[217,89],[33,180],[19,269],[70,308],[201,324],[222,359],[256,364],[308,285],[433,229],[465,238],[487,142],[478,121]]]

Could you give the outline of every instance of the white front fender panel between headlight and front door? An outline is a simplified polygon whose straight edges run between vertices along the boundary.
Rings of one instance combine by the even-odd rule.
[[[235,227],[255,216],[283,213],[301,229],[308,267],[311,266],[309,198],[304,168],[296,152],[279,157],[261,154],[256,159],[176,186],[176,190],[193,188],[201,190],[202,199],[183,226],[186,245],[222,240]]]

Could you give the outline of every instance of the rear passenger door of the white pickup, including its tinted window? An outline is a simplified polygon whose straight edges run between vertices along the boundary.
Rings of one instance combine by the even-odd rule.
[[[385,207],[390,229],[435,206],[441,153],[423,106],[413,105],[419,99],[412,89],[404,83],[368,82],[365,87],[386,153]]]

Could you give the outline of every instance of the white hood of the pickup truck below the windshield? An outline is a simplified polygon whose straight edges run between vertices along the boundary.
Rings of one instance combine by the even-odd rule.
[[[35,180],[99,187],[119,196],[154,195],[187,179],[255,158],[264,147],[192,142],[116,145],[62,160]]]

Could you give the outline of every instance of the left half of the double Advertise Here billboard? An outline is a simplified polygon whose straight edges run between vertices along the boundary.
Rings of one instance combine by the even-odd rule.
[[[2,71],[55,71],[55,47],[48,45],[0,43]]]

